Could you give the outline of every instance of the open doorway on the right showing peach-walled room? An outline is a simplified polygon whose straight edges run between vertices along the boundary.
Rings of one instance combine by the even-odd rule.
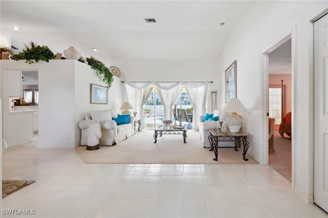
[[[269,54],[269,119],[275,120],[274,132],[269,142],[269,166],[292,182],[291,133],[282,133],[282,121],[292,108],[292,43],[291,39]],[[288,130],[289,131],[289,130]],[[290,132],[290,131],[289,131]]]

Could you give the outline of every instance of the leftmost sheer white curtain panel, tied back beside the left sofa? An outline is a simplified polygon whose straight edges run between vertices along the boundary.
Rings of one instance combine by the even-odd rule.
[[[140,129],[145,128],[145,116],[144,116],[144,104],[146,103],[152,88],[153,88],[153,83],[151,82],[125,82],[125,88],[126,88],[126,93],[128,93],[130,96],[135,96],[134,100],[134,105],[135,105],[135,110],[137,113],[137,118],[140,119],[141,122],[141,127]],[[133,94],[133,92],[135,94]],[[127,96],[128,98],[128,96]],[[133,104],[132,104],[133,105]]]

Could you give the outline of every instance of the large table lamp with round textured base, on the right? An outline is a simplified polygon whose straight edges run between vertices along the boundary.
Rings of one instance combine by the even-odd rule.
[[[228,101],[227,105],[223,108],[223,112],[232,112],[232,114],[227,117],[230,132],[239,132],[242,124],[242,117],[238,115],[237,112],[245,111],[247,111],[246,108],[238,98],[232,98]]]

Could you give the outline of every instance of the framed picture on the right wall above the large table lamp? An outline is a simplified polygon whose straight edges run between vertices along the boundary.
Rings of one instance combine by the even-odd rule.
[[[236,83],[236,73],[237,73],[237,61],[235,60],[230,64],[226,71],[226,102],[231,98],[237,98],[237,83]]]

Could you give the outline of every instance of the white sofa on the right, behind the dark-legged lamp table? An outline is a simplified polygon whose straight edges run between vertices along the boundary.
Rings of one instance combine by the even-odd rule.
[[[220,127],[220,121],[224,122],[227,120],[227,114],[226,112],[222,112],[220,110],[213,111],[213,117],[218,116],[219,120],[206,120],[202,122],[204,119],[204,115],[199,116],[199,133],[200,133],[200,139],[203,142],[204,147],[211,147],[209,136],[211,135],[210,129],[218,129]],[[219,142],[218,147],[234,147],[234,143],[232,142]]]

